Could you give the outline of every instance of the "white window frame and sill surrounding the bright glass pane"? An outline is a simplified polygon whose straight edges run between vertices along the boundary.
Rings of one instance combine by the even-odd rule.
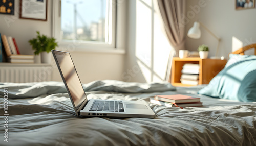
[[[111,52],[110,50],[117,50],[118,53],[125,53],[124,51],[124,37],[125,37],[125,20],[126,15],[126,2],[122,0],[109,0],[109,6],[112,7],[111,15],[111,44],[104,42],[93,41],[62,41],[60,38],[60,25],[61,25],[61,0],[52,1],[52,36],[56,38],[59,49],[67,51],[90,51],[90,52]],[[120,21],[122,19],[122,21]],[[122,28],[122,29],[120,29]],[[109,51],[106,51],[109,50]]]

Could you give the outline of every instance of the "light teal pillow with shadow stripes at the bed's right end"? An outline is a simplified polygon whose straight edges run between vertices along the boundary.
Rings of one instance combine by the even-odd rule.
[[[224,69],[199,94],[242,102],[256,101],[256,56],[230,54]]]

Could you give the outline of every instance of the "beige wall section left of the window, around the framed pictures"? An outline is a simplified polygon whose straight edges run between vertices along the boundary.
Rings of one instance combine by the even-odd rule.
[[[29,20],[19,18],[19,1],[14,1],[14,15],[0,14],[0,33],[16,39],[21,54],[33,54],[28,40],[36,36],[36,31],[51,35],[51,10],[48,3],[48,21]]]

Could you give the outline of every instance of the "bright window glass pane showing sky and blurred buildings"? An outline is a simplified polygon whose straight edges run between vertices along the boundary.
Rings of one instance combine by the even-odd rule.
[[[108,0],[62,0],[61,39],[108,43],[110,9]]]

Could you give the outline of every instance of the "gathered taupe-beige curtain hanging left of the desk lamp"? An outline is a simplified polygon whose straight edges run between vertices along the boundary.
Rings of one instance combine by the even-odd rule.
[[[164,28],[170,44],[174,47],[176,55],[180,49],[185,48],[185,16],[186,0],[158,0],[158,6],[163,18]]]

